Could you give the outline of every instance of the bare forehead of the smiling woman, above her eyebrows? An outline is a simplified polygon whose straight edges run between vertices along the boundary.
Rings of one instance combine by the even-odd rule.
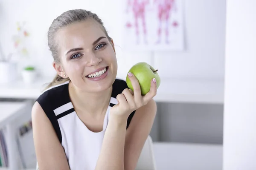
[[[56,36],[60,50],[92,45],[99,37],[106,36],[102,26],[94,20],[70,24],[61,28]],[[84,47],[85,48],[85,47]]]

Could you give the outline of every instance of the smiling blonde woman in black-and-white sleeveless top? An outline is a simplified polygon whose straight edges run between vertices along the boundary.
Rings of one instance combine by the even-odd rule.
[[[40,170],[134,170],[156,115],[156,80],[141,96],[116,79],[113,40],[96,14],[70,10],[49,28],[57,76],[32,108]]]

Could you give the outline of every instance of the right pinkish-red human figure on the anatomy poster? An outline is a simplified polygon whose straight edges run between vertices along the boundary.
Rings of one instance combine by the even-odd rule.
[[[161,42],[161,32],[162,32],[162,23],[165,22],[165,37],[166,37],[166,44],[169,43],[169,19],[170,19],[170,12],[172,11],[175,0],[154,0],[154,3],[158,5],[158,20],[159,26],[157,30],[158,40],[157,43]]]

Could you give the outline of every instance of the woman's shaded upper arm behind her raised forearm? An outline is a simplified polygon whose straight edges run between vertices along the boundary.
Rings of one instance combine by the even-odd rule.
[[[151,99],[147,105],[134,114],[125,136],[125,170],[134,170],[145,141],[151,131],[157,113],[156,102]]]

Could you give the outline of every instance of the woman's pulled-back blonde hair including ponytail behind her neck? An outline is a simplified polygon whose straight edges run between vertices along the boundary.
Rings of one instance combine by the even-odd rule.
[[[50,51],[52,52],[52,57],[56,63],[60,63],[60,58],[58,56],[58,44],[55,40],[56,33],[58,32],[58,30],[72,23],[78,23],[81,21],[85,21],[87,19],[93,19],[97,21],[102,26],[103,31],[105,32],[108,40],[111,41],[111,37],[108,36],[108,32],[106,31],[106,28],[102,20],[96,14],[84,9],[73,9],[66,11],[53,20],[48,31],[48,46],[50,48]],[[69,78],[63,78],[57,74],[52,80],[52,82],[50,82],[49,85],[46,87],[46,89],[69,80]]]

